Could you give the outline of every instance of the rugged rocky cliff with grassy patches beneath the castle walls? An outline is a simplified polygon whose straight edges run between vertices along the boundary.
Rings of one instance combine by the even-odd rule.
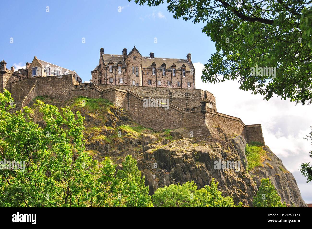
[[[283,202],[290,207],[306,207],[293,175],[267,146],[254,146],[252,155],[246,155],[249,146],[245,139],[228,137],[222,130],[219,137],[200,140],[190,137],[184,128],[154,132],[132,122],[127,112],[104,99],[79,97],[66,103],[49,97],[37,99],[58,107],[68,105],[85,116],[86,150],[94,159],[110,157],[122,169],[127,155],[135,157],[150,195],[158,187],[191,180],[202,188],[215,178],[222,194],[252,207],[261,178],[269,177]],[[43,125],[36,109],[34,119]],[[232,169],[216,169],[222,162],[239,163]]]

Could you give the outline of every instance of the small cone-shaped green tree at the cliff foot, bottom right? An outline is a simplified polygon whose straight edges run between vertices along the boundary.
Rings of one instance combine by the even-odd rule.
[[[261,179],[257,196],[253,200],[254,207],[287,207],[280,202],[280,196],[269,178]]]

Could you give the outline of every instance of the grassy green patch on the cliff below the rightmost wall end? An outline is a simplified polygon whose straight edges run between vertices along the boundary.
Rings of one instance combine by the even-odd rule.
[[[266,151],[262,147],[256,145],[246,145],[245,153],[248,161],[248,170],[253,170],[257,166],[261,166],[262,162],[267,159]]]

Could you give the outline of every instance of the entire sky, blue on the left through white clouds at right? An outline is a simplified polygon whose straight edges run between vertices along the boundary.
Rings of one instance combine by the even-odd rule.
[[[167,58],[186,58],[192,53],[196,88],[216,96],[218,112],[240,117],[246,124],[261,123],[266,145],[293,173],[303,199],[312,202],[312,182],[307,184],[298,172],[302,162],[311,161],[311,145],[303,137],[310,133],[312,107],[295,106],[277,97],[264,101],[261,95],[239,90],[237,81],[201,82],[203,64],[215,52],[213,42],[201,31],[202,24],[174,19],[165,4],[148,7],[127,0],[11,0],[1,4],[0,58],[7,68],[25,66],[37,56],[75,70],[88,81],[101,47],[105,53],[121,54],[123,48],[129,53],[135,45],[143,56],[154,52],[155,57]]]

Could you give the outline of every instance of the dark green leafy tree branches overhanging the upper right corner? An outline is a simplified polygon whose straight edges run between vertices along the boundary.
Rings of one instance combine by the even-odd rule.
[[[129,0],[131,1],[131,0]],[[134,0],[158,6],[163,0]],[[204,82],[239,78],[266,100],[312,102],[312,8],[308,0],[167,0],[173,17],[202,22],[216,52]],[[276,70],[276,71],[275,71]]]

